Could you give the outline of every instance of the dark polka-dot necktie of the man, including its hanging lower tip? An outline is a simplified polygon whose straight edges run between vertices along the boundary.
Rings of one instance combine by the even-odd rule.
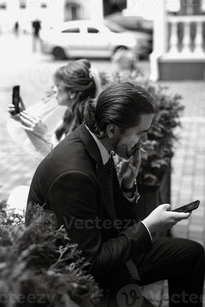
[[[109,158],[108,162],[104,166],[105,166],[105,172],[106,172],[106,176],[108,180],[108,187],[110,190],[112,202],[114,204],[114,196],[113,196],[113,167],[114,165],[113,165],[112,159]],[[125,263],[125,265],[126,265],[126,268],[128,269],[128,272],[132,276],[132,278],[140,281],[139,274],[138,274],[138,271],[137,271],[137,268],[134,262],[132,260],[128,260]]]

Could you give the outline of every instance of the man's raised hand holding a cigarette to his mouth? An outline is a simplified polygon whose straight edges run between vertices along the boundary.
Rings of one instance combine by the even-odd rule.
[[[126,188],[132,188],[134,180],[139,172],[141,164],[141,146],[142,142],[137,144],[136,152],[129,159],[123,159],[120,174],[122,176],[122,183]]]

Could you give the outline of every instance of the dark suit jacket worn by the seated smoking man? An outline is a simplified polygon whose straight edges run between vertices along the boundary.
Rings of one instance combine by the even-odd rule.
[[[39,164],[28,197],[55,213],[58,228],[66,226],[102,288],[127,260],[152,246],[146,227],[135,223],[136,204],[122,194],[117,174],[113,185],[114,206],[99,148],[81,124]]]

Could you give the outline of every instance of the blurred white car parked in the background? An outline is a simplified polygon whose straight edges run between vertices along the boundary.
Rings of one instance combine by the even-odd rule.
[[[134,35],[114,33],[91,20],[68,21],[40,32],[42,52],[56,59],[110,58],[119,48],[137,53]]]

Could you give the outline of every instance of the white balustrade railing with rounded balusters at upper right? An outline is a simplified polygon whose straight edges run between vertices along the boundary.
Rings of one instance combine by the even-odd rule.
[[[167,54],[205,57],[205,15],[167,16]]]

